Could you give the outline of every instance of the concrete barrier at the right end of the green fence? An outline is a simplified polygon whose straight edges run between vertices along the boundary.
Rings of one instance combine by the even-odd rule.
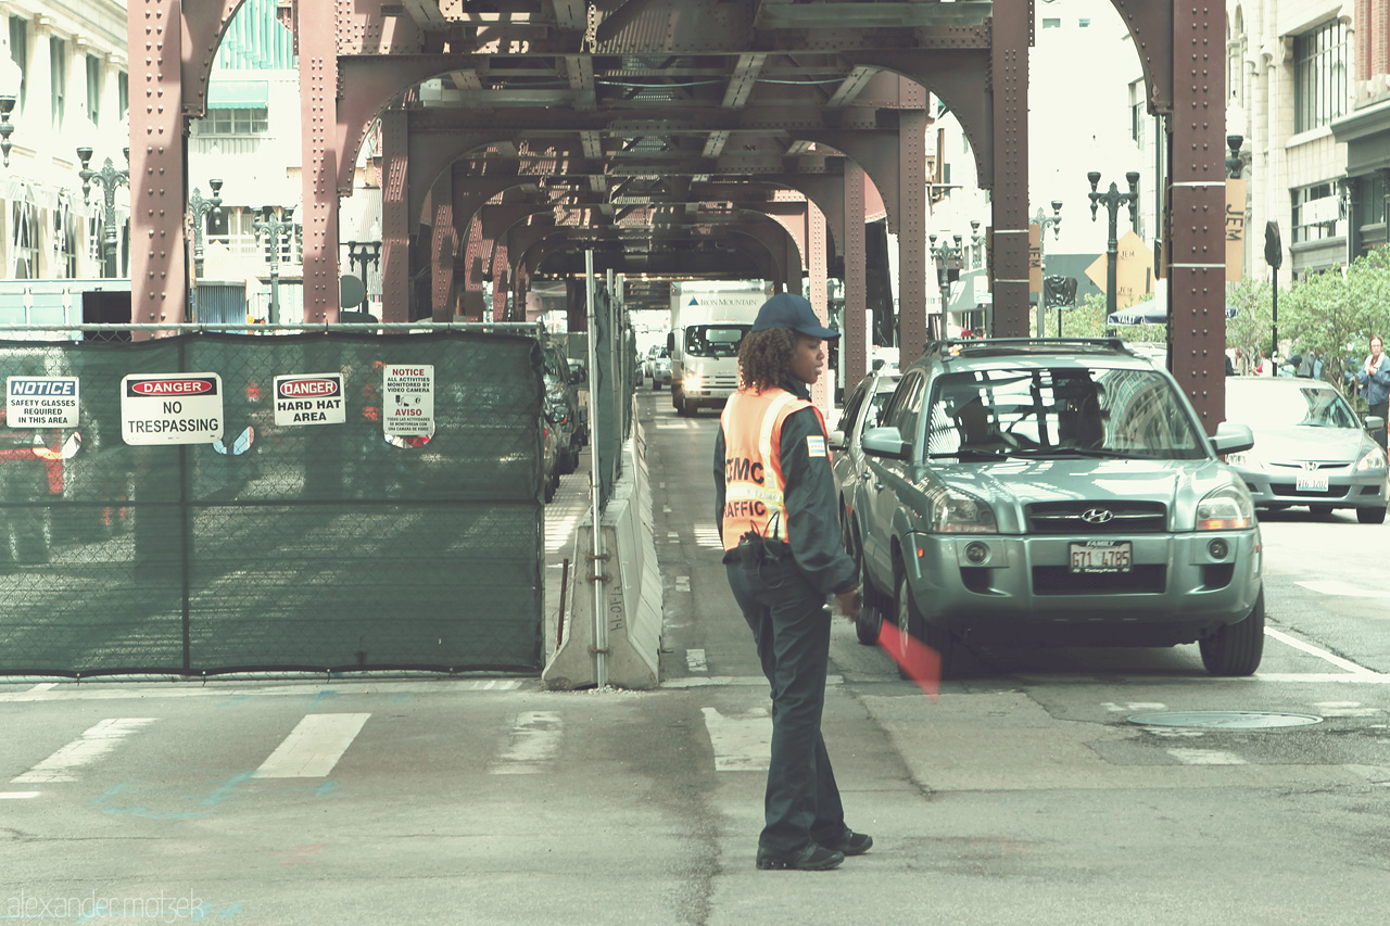
[[[574,590],[569,615],[562,615],[564,637],[541,672],[553,691],[598,684],[594,651],[594,583],[603,583],[603,620],[607,627],[605,670],[619,688],[655,688],[662,649],[662,574],[656,562],[652,485],[646,471],[646,438],[634,423],[627,442],[628,466],[613,487],[599,517],[607,560],[591,563],[594,526],[580,524],[574,539]],[[602,576],[602,578],[594,578]]]

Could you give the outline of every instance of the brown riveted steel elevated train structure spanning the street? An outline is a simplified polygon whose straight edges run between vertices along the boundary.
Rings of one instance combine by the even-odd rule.
[[[186,128],[239,6],[129,4],[135,323],[183,318]],[[1172,366],[1212,432],[1225,8],[1115,7],[1166,117]],[[582,328],[589,250],[634,285],[769,279],[821,314],[834,275],[852,387],[869,367],[866,217],[898,235],[903,362],[927,339],[935,96],[992,193],[991,334],[1029,334],[1031,0],[282,0],[279,18],[300,70],[306,321],[338,316],[339,202],[379,133],[384,321],[481,320],[489,284],[517,313],[543,275],[571,281]]]

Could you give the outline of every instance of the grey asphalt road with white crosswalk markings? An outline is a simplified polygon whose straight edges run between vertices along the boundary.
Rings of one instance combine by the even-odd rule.
[[[1254,679],[1195,647],[981,652],[938,701],[837,622],[835,872],[758,872],[767,692],[713,528],[716,416],[639,395],[662,688],[531,677],[0,684],[0,919],[1379,925],[1390,527],[1265,519]],[[552,506],[563,545],[574,477]],[[1155,727],[1152,712],[1312,717]]]

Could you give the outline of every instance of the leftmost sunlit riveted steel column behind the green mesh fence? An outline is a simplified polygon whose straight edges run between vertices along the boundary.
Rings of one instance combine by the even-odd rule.
[[[183,321],[188,306],[182,35],[179,0],[129,4],[131,320],[139,324]]]

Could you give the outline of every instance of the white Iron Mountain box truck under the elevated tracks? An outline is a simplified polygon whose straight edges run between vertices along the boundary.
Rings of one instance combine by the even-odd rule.
[[[671,403],[682,416],[724,407],[738,389],[738,345],[753,327],[769,286],[737,282],[673,282]]]

